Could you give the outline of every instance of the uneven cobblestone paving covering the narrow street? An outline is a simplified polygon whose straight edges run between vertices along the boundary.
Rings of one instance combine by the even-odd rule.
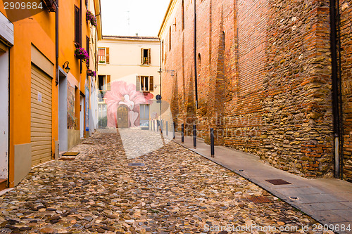
[[[0,233],[313,233],[319,224],[174,142],[127,159],[116,132],[97,131],[70,150],[80,152],[73,161],[32,169],[0,197]]]

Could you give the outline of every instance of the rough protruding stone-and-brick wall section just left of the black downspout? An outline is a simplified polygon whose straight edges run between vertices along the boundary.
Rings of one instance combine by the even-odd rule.
[[[332,176],[327,1],[270,1],[260,155],[305,176]]]

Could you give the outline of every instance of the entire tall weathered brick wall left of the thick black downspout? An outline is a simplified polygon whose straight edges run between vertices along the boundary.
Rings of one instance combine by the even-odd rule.
[[[191,0],[184,1],[183,31],[181,4],[168,22],[170,51],[164,42],[163,68],[177,75],[163,73],[163,98],[175,121],[180,126],[188,116],[193,124],[196,114],[206,141],[214,127],[218,144],[255,153],[295,174],[332,176],[327,1],[197,0],[196,5],[198,110]],[[164,33],[162,39],[168,38]]]

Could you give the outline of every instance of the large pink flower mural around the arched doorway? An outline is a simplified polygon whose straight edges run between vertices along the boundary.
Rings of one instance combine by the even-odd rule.
[[[111,91],[106,93],[108,105],[108,127],[116,127],[118,124],[118,108],[123,105],[128,111],[128,126],[139,126],[139,105],[151,104],[152,93],[136,91],[135,84],[127,84],[123,81],[111,82]]]

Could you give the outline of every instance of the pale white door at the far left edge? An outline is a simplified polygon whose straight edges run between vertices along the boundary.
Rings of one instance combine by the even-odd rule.
[[[2,47],[0,47],[0,183],[1,179],[8,178],[8,49],[6,48],[6,51],[2,51],[1,48]]]

